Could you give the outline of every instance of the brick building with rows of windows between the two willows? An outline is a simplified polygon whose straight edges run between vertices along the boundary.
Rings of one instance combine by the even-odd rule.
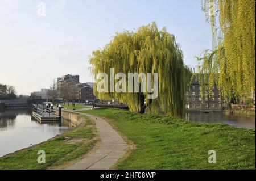
[[[201,98],[201,86],[194,78],[191,87],[188,87],[185,93],[187,107],[197,110],[220,110],[226,106],[217,85],[214,85],[212,92],[206,92],[206,94],[208,96]]]

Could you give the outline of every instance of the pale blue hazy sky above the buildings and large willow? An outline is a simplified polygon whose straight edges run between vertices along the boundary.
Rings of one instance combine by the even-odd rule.
[[[175,35],[192,68],[212,45],[201,0],[0,0],[0,83],[30,95],[64,74],[93,82],[93,50],[151,22]]]

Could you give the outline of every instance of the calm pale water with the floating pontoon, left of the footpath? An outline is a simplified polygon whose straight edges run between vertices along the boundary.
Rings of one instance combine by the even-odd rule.
[[[69,125],[63,120],[40,124],[30,110],[0,111],[0,157],[68,131]]]

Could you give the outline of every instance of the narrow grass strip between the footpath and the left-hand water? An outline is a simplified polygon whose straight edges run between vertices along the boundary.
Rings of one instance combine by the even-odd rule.
[[[88,152],[98,141],[93,120],[87,117],[77,129],[37,146],[0,158],[1,169],[56,169],[67,166]],[[46,152],[46,164],[38,164],[39,150]]]

